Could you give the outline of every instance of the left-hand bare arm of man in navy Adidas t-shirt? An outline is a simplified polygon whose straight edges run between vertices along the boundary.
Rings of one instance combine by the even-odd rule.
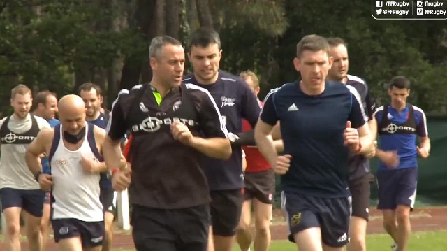
[[[256,127],[254,128],[254,138],[256,140],[256,145],[259,151],[268,161],[271,166],[277,161],[277,150],[274,147],[274,142],[272,139],[272,129],[270,124],[263,122],[261,119],[258,120]]]

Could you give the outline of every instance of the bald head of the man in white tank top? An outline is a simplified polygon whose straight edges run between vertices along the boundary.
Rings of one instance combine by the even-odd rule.
[[[70,134],[78,134],[85,127],[85,103],[78,95],[66,95],[57,105],[62,128]]]

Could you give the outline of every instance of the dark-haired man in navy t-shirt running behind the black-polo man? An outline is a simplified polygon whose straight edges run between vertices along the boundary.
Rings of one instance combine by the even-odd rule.
[[[221,40],[216,31],[207,28],[194,31],[189,41],[188,53],[193,74],[185,76],[184,82],[207,89],[216,101],[228,131],[237,135],[242,133],[242,118],[247,119],[251,127],[254,127],[260,108],[256,96],[244,80],[219,71],[221,56]],[[243,203],[241,190],[244,187],[241,145],[245,138],[232,136],[233,141],[237,138],[240,139],[233,142],[233,155],[228,161],[204,159],[211,190],[210,250],[213,249],[213,241],[217,251],[233,250],[233,237]]]

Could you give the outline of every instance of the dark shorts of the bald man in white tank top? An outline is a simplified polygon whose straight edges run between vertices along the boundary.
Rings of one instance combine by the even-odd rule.
[[[68,218],[51,220],[54,231],[54,241],[80,237],[82,248],[93,248],[103,245],[104,221],[83,222]]]

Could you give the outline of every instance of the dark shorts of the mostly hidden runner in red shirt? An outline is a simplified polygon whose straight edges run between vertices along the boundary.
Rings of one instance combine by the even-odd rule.
[[[244,199],[258,199],[265,204],[273,203],[274,171],[272,168],[258,172],[247,172],[244,175]]]

